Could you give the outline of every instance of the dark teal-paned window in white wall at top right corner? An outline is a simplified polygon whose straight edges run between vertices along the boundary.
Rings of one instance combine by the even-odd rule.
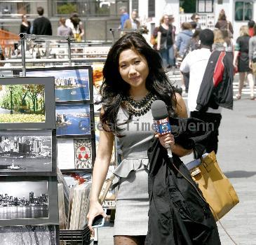
[[[252,1],[236,1],[235,4],[235,20],[245,21],[252,20]]]

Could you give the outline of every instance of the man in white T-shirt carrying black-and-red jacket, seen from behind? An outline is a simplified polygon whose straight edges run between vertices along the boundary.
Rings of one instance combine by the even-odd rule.
[[[212,57],[211,49],[214,41],[213,31],[203,29],[199,34],[199,38],[201,41],[200,49],[189,52],[182,61],[180,71],[182,71],[182,73],[189,73],[187,103],[190,117],[198,118],[208,123],[212,131],[212,138],[206,146],[206,152],[210,153],[211,151],[215,151],[215,153],[217,153],[218,129],[222,115],[220,105],[213,102],[224,102],[221,106],[226,108],[228,108],[228,106],[230,107],[230,104],[233,105],[233,87],[231,86],[234,78],[233,64],[231,59],[225,55],[223,55],[223,57],[220,55],[220,59],[216,59],[215,57],[213,61],[210,59],[210,57]],[[213,52],[213,54],[216,55],[219,55],[219,53],[220,51]],[[215,70],[220,71],[220,73],[216,74],[213,72]],[[230,74],[232,75],[227,76]],[[222,88],[223,85],[227,84],[227,86],[225,89],[216,90],[216,94],[212,97],[213,86],[217,87],[218,84],[220,84]],[[228,92],[223,95],[223,91]],[[213,99],[213,101],[210,99]]]

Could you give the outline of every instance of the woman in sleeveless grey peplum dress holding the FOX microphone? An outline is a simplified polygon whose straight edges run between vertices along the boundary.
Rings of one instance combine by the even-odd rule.
[[[119,180],[116,198],[114,244],[144,244],[148,230],[148,165],[147,149],[154,138],[150,106],[162,99],[170,115],[187,118],[187,109],[180,94],[173,90],[161,66],[161,57],[143,36],[126,34],[109,50],[103,69],[100,142],[93,168],[88,226],[99,214],[106,216],[98,201],[112,155],[114,134],[123,152],[123,161],[114,174]],[[149,125],[147,128],[146,125]],[[147,128],[147,130],[146,130]],[[159,136],[163,147],[170,145],[178,156],[191,153],[175,144],[173,134]]]

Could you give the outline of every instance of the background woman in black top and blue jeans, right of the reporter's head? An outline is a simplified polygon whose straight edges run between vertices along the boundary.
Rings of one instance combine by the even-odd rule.
[[[169,68],[175,66],[174,63],[174,48],[173,48],[173,28],[169,23],[169,16],[163,15],[160,20],[160,26],[157,32],[157,46],[163,59],[163,67]]]

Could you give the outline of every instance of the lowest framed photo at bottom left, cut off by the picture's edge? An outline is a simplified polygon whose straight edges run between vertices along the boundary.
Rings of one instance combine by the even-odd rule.
[[[56,225],[0,227],[1,245],[57,245],[58,237]]]

